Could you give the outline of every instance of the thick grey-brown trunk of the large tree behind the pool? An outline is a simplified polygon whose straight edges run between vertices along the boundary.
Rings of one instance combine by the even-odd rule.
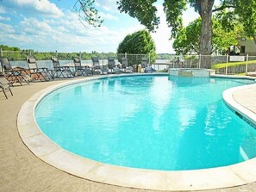
[[[202,18],[202,28],[200,36],[201,68],[210,68],[211,41],[212,41],[212,8],[215,0],[197,0],[199,14]],[[199,4],[200,3],[200,4]]]

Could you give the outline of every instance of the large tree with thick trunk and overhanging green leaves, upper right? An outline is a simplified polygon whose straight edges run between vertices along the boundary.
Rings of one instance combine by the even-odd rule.
[[[128,13],[139,20],[150,31],[154,31],[159,25],[157,9],[153,3],[156,0],[120,0],[117,1],[121,12]],[[232,21],[239,21],[244,27],[247,36],[256,34],[256,0],[220,0],[220,5],[214,7],[215,0],[165,0],[163,3],[166,22],[171,30],[171,38],[177,38],[178,32],[183,28],[182,14],[190,6],[200,15],[201,32],[199,50],[203,55],[212,53],[212,14],[219,12],[222,24],[225,28],[232,28]],[[226,11],[226,14],[222,13]],[[256,40],[255,40],[256,42]],[[203,63],[209,68],[209,62]]]

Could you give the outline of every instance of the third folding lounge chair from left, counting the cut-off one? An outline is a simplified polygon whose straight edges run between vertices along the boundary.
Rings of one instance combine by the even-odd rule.
[[[39,68],[34,57],[27,58],[28,64],[28,75],[34,79],[41,81],[50,81],[53,80],[53,77],[47,67]]]

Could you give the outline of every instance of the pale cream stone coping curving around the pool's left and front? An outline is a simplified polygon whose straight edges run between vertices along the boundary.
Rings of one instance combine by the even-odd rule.
[[[134,76],[136,74],[132,75]],[[30,97],[22,105],[17,117],[18,131],[24,144],[28,146],[28,149],[35,156],[59,170],[64,170],[76,177],[91,181],[123,187],[157,190],[202,190],[228,188],[256,182],[256,158],[240,164],[204,170],[142,170],[103,164],[88,158],[82,158],[62,149],[49,139],[47,135],[41,132],[40,127],[38,127],[34,119],[34,108],[40,102],[41,98],[53,90],[68,84],[78,84],[98,78],[120,76],[127,75],[109,75],[70,80],[66,83],[50,86]],[[230,93],[231,91],[229,91],[229,96],[227,95],[226,98],[228,101],[232,100]],[[229,103],[232,105],[233,102]]]

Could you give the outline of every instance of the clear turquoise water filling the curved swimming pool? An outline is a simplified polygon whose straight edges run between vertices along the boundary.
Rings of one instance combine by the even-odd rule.
[[[35,109],[41,130],[85,158],[151,170],[196,170],[256,157],[256,130],[222,92],[253,81],[113,77],[53,91]]]

